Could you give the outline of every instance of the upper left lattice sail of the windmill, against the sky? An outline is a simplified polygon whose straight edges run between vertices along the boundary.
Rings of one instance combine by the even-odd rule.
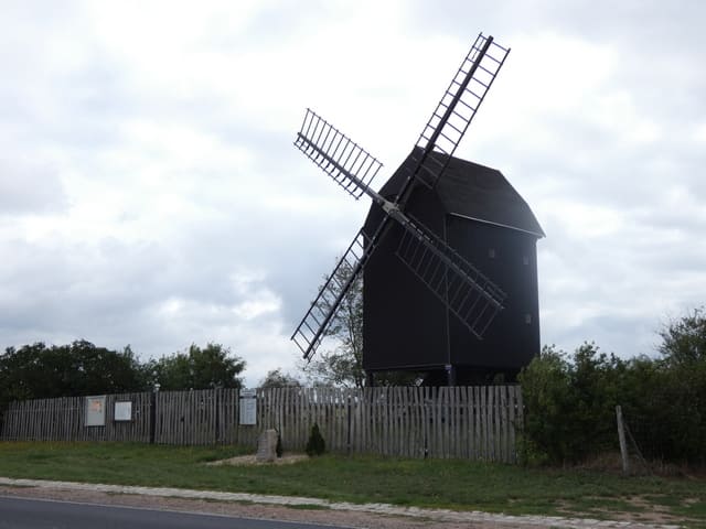
[[[359,199],[383,164],[340,130],[307,109],[295,145]]]

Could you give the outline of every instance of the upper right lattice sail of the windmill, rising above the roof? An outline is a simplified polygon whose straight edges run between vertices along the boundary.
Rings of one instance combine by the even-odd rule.
[[[502,47],[492,36],[482,33],[478,35],[419,134],[417,147],[420,148],[420,153],[416,155],[409,181],[416,177],[429,187],[436,185],[509,53],[510,48]],[[429,156],[432,151],[446,155]],[[408,186],[403,187],[403,191],[406,187]],[[400,195],[403,192],[398,199]]]

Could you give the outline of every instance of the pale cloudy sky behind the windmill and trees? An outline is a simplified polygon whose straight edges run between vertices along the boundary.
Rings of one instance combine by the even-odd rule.
[[[542,343],[656,354],[706,303],[706,2],[0,0],[0,347],[215,342],[246,384],[361,226],[311,107],[408,154],[479,32],[512,48],[457,150],[538,241]]]

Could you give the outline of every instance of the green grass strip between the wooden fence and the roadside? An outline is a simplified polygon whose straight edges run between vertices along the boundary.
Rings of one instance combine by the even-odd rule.
[[[277,494],[333,501],[614,518],[659,507],[706,527],[706,479],[623,477],[458,460],[324,455],[290,465],[206,466],[238,447],[0,443],[0,476]]]

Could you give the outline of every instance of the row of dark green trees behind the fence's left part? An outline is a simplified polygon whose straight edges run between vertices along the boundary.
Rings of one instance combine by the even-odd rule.
[[[111,350],[86,341],[8,347],[0,355],[0,409],[12,400],[149,391],[156,387],[239,388],[244,369],[242,358],[211,343],[143,363],[129,346]]]

